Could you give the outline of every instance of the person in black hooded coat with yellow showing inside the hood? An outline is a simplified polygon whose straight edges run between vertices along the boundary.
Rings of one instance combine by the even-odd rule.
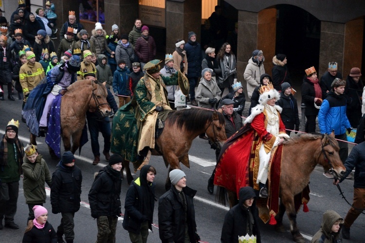
[[[152,231],[153,209],[155,208],[156,169],[144,165],[140,176],[129,186],[123,228],[128,230],[131,242],[147,242],[148,229]]]

